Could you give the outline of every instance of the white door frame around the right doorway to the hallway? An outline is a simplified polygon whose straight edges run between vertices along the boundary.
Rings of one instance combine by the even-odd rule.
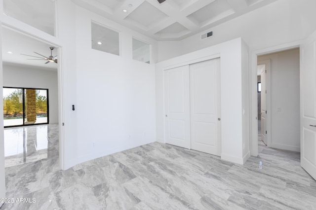
[[[251,51],[251,58],[250,58],[250,77],[249,77],[249,87],[250,87],[250,154],[252,156],[258,156],[258,94],[257,94],[257,65],[258,65],[258,56],[270,54],[270,53],[276,53],[284,50],[290,50],[294,48],[299,48],[302,44],[303,40],[289,42],[286,44],[276,45],[268,48],[263,48],[260,50],[252,50]],[[270,80],[271,81],[271,80]],[[267,82],[266,82],[267,83]],[[268,88],[267,84],[267,88]],[[271,86],[271,84],[270,84]],[[269,87],[270,88],[270,87]],[[271,103],[271,102],[270,102]],[[271,105],[270,105],[271,106]],[[270,109],[270,108],[269,108]],[[267,104],[267,112],[268,112],[268,104]],[[271,114],[271,110],[269,112]],[[269,114],[268,113],[268,114]],[[271,119],[271,117],[269,117]],[[270,123],[270,138],[271,141],[271,123]],[[271,142],[270,142],[271,145]]]

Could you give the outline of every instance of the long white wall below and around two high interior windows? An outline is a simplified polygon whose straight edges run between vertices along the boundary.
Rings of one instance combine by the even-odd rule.
[[[78,162],[156,141],[155,64],[132,60],[132,37],[156,41],[79,6],[76,18]],[[120,31],[121,56],[91,49],[91,20]]]

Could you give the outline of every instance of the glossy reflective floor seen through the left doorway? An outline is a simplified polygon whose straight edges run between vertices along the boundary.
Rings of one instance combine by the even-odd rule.
[[[58,124],[5,128],[5,167],[58,158],[58,144]]]

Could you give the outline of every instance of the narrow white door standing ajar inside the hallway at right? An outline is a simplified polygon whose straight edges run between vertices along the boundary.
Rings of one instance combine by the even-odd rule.
[[[262,68],[260,70],[261,75],[261,140],[265,145],[267,145],[267,92],[266,92],[266,75],[267,75],[267,69],[266,65],[263,64]]]

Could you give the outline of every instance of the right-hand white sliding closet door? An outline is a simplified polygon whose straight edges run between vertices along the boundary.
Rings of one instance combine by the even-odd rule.
[[[191,149],[221,154],[220,59],[190,65]]]

